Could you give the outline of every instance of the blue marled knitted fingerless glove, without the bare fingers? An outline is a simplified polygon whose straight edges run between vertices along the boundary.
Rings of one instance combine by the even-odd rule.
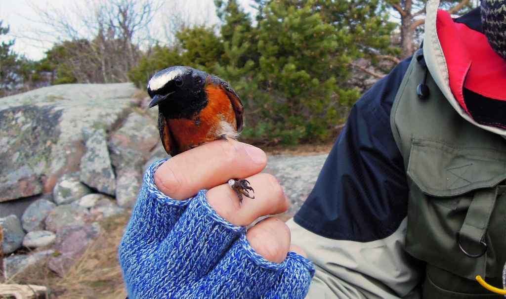
[[[154,184],[155,162],[144,175],[132,218],[119,246],[130,299],[293,298],[306,296],[313,264],[289,252],[281,264],[249,245],[244,227],[220,217],[206,190],[174,200]]]

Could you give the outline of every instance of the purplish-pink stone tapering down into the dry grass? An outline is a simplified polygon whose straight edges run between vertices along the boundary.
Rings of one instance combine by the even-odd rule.
[[[63,277],[99,233],[100,228],[95,225],[69,226],[58,230],[54,248],[59,255],[49,260],[49,268]]]

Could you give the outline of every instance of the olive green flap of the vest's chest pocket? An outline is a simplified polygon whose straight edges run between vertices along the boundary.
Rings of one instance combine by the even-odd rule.
[[[407,174],[421,191],[431,196],[461,195],[505,180],[506,153],[413,139]]]

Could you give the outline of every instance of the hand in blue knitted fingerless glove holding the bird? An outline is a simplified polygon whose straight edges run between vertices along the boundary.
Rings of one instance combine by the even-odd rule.
[[[131,299],[304,298],[314,269],[290,246],[287,226],[269,218],[244,228],[288,206],[277,180],[259,174],[266,161],[262,150],[229,140],[148,170],[119,249]],[[256,199],[239,203],[231,178],[247,179]]]

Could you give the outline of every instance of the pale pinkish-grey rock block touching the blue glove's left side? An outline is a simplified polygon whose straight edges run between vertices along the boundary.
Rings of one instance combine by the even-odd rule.
[[[116,202],[122,207],[132,207],[142,184],[142,175],[136,170],[123,170],[116,181]]]

